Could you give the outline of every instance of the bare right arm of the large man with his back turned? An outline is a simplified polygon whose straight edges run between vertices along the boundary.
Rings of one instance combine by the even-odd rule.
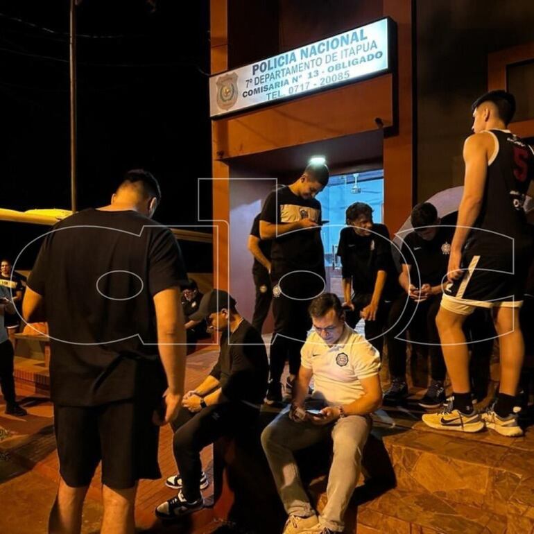
[[[165,422],[171,422],[180,408],[185,378],[184,313],[180,288],[164,289],[154,295],[157,343],[169,388],[166,393]]]

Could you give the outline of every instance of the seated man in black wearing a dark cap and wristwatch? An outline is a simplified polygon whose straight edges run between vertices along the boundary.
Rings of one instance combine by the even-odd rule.
[[[255,421],[267,389],[268,363],[261,336],[236,310],[236,301],[214,289],[206,293],[193,320],[207,319],[221,335],[218,361],[206,379],[182,400],[175,422],[173,450],[178,474],[166,485],[178,495],[157,506],[162,519],[182,517],[203,508],[207,488],[200,451],[221,436]]]

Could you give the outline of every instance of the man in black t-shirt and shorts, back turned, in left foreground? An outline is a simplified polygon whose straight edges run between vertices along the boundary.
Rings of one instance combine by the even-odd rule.
[[[187,275],[173,234],[151,219],[160,198],[153,175],[129,171],[110,205],[46,234],[28,277],[24,318],[47,320],[51,338],[61,475],[53,534],[80,532],[100,461],[104,534],[135,531],[137,482],[161,476],[155,422],[171,422],[182,400]]]

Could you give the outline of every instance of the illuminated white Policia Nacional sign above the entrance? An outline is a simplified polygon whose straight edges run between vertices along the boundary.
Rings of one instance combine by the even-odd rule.
[[[300,96],[390,69],[389,22],[381,19],[209,80],[211,116]]]

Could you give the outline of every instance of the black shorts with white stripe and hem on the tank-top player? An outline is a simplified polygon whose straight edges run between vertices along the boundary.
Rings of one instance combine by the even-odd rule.
[[[460,315],[475,308],[521,307],[531,259],[530,251],[464,252],[463,275],[445,284],[442,307]]]

